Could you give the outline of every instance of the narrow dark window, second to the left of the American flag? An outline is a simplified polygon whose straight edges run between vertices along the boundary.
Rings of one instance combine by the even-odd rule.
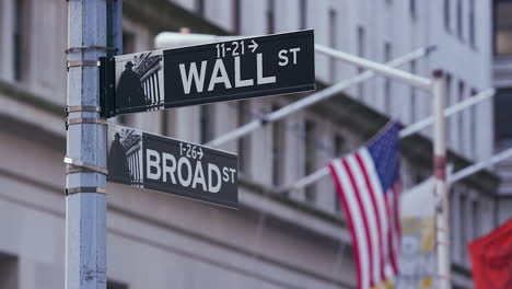
[[[279,109],[274,106],[272,111]],[[284,175],[284,120],[275,122],[271,125],[272,134],[272,185],[281,186]]]

